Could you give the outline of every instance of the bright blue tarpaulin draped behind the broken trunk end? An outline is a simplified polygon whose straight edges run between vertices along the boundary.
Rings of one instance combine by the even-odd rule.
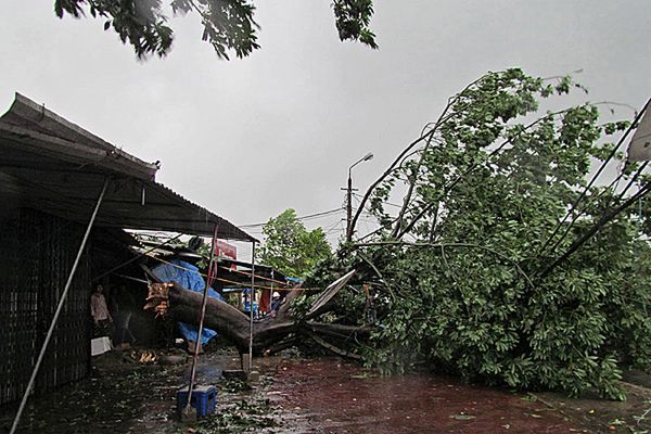
[[[163,282],[177,282],[189,291],[203,294],[203,291],[206,286],[205,280],[203,280],[203,277],[199,273],[199,268],[192,264],[186,263],[184,260],[173,259],[170,260],[170,264],[159,265],[152,271]],[[208,288],[208,296],[224,302],[224,297],[212,288]],[[178,322],[178,327],[186,341],[196,341],[196,332],[199,332],[199,327],[180,321]],[[216,331],[204,328],[201,333],[202,345],[207,344],[208,341],[216,335]]]

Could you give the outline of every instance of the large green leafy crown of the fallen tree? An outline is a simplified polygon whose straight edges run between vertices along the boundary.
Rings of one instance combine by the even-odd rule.
[[[600,123],[592,104],[539,111],[577,88],[567,77],[488,73],[450,98],[372,186],[365,202],[379,230],[331,264],[372,284],[382,327],[369,362],[388,371],[425,362],[574,395],[596,387],[610,398],[623,398],[623,366],[651,368],[648,206],[625,209],[550,268],[622,203],[638,169],[615,154],[620,189],[590,187],[563,222],[591,164],[613,152],[608,136],[628,126]],[[361,293],[345,302],[353,323]]]

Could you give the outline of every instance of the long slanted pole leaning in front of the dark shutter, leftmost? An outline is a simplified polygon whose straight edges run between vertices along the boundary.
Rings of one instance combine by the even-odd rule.
[[[104,178],[104,186],[102,186],[102,191],[98,196],[98,201],[95,203],[95,207],[90,216],[90,220],[88,221],[88,226],[86,227],[86,233],[84,233],[84,238],[81,239],[81,244],[79,245],[79,250],[77,251],[77,257],[73,263],[73,268],[71,269],[71,273],[68,275],[67,281],[65,282],[65,286],[63,289],[63,294],[61,294],[61,298],[59,299],[59,305],[56,306],[56,311],[54,311],[54,317],[52,318],[52,322],[50,323],[50,329],[48,330],[48,334],[46,335],[46,340],[43,341],[43,345],[41,346],[38,358],[36,359],[36,365],[34,366],[34,370],[31,371],[31,376],[29,378],[29,383],[27,383],[27,388],[25,388],[25,393],[23,394],[23,399],[21,400],[21,406],[18,407],[18,412],[14,418],[13,425],[11,426],[10,434],[14,434],[16,429],[18,427],[18,423],[21,422],[21,416],[23,416],[23,410],[25,410],[25,405],[27,404],[27,398],[29,397],[29,393],[31,388],[34,388],[34,383],[36,382],[36,375],[38,375],[38,370],[46,357],[46,352],[48,350],[48,345],[50,344],[50,340],[52,339],[52,334],[54,333],[54,328],[56,327],[56,321],[61,315],[61,310],[63,310],[63,305],[65,304],[65,298],[67,297],[67,293],[73,283],[73,278],[75,277],[75,272],[77,271],[77,267],[79,266],[79,260],[81,259],[81,255],[84,254],[84,248],[86,248],[86,243],[88,242],[88,237],[90,235],[90,230],[94,224],[95,217],[98,216],[98,212],[100,210],[100,205],[104,200],[104,193],[106,193],[106,188],[108,187],[108,178]]]

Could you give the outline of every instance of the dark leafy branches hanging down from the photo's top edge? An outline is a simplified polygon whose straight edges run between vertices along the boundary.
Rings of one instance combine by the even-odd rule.
[[[260,48],[259,25],[255,22],[253,0],[170,0],[174,14],[189,12],[201,16],[202,39],[213,46],[220,59],[229,54],[245,58]],[[360,41],[378,48],[369,24],[373,15],[371,0],[334,0],[335,25],[342,41]],[[168,13],[161,0],[55,0],[54,12],[75,17],[88,10],[95,18],[104,18],[104,30],[113,27],[123,43],[129,43],[139,58],[167,54],[174,41]]]

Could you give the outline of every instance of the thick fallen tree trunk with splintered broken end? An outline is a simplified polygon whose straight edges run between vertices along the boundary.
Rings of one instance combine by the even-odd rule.
[[[349,273],[352,276],[352,273]],[[329,302],[345,285],[349,276],[342,278],[330,285],[314,303],[311,309],[303,321],[295,321],[289,309],[289,302],[283,305],[276,318],[254,320],[253,323],[253,352],[255,355],[276,353],[286,348],[299,339],[309,339],[318,335],[314,341],[328,349],[341,350],[343,355],[355,357],[347,350],[339,348],[331,342],[323,345],[323,337],[337,343],[345,341],[355,342],[357,337],[368,335],[371,328],[321,323],[312,321],[317,316],[328,311]],[[297,292],[297,291],[296,291]],[[291,299],[295,293],[290,293]],[[178,283],[154,283],[150,286],[150,296],[146,308],[155,308],[161,315],[171,315],[175,319],[190,324],[199,326],[203,295],[188,291]],[[228,339],[241,352],[248,350],[251,319],[228,303],[208,298],[204,327],[217,331]]]

